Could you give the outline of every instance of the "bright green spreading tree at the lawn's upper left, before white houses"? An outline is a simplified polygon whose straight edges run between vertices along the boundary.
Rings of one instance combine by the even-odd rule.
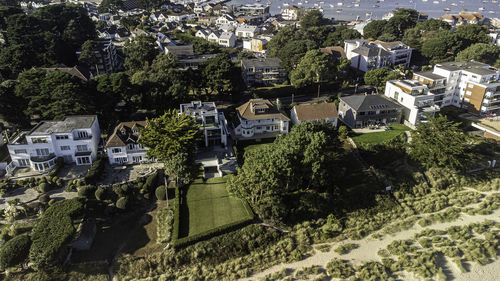
[[[199,128],[195,118],[168,110],[158,118],[147,119],[139,142],[149,148],[148,157],[160,161],[166,161],[179,153],[192,157],[200,137]]]

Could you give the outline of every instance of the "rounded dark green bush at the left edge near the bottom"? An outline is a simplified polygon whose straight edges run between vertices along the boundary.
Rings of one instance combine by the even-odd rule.
[[[22,263],[29,254],[31,240],[27,234],[18,235],[0,248],[0,269]]]

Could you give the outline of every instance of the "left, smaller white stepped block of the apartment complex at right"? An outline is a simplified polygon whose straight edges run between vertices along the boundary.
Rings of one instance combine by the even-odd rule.
[[[443,79],[444,80],[444,79]],[[436,82],[436,87],[444,87],[444,81]],[[439,83],[439,84],[437,84]],[[439,91],[436,89],[436,91]],[[443,96],[445,94],[443,93]],[[434,102],[437,99],[425,84],[412,80],[388,81],[385,88],[385,96],[397,101],[402,105],[402,116],[404,124],[415,127],[421,122],[427,122],[429,116],[434,116],[440,106]],[[443,101],[441,97],[441,102]],[[446,97],[446,100],[451,100]]]

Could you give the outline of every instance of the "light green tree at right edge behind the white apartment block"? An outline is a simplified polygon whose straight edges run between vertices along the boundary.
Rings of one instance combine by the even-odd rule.
[[[459,61],[475,60],[494,67],[500,67],[500,47],[492,44],[476,43],[458,53],[456,59]]]

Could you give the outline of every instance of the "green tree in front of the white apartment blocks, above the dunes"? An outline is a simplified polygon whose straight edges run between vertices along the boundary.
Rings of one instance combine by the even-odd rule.
[[[470,159],[468,136],[446,116],[429,117],[412,132],[410,156],[425,168],[464,169]]]

